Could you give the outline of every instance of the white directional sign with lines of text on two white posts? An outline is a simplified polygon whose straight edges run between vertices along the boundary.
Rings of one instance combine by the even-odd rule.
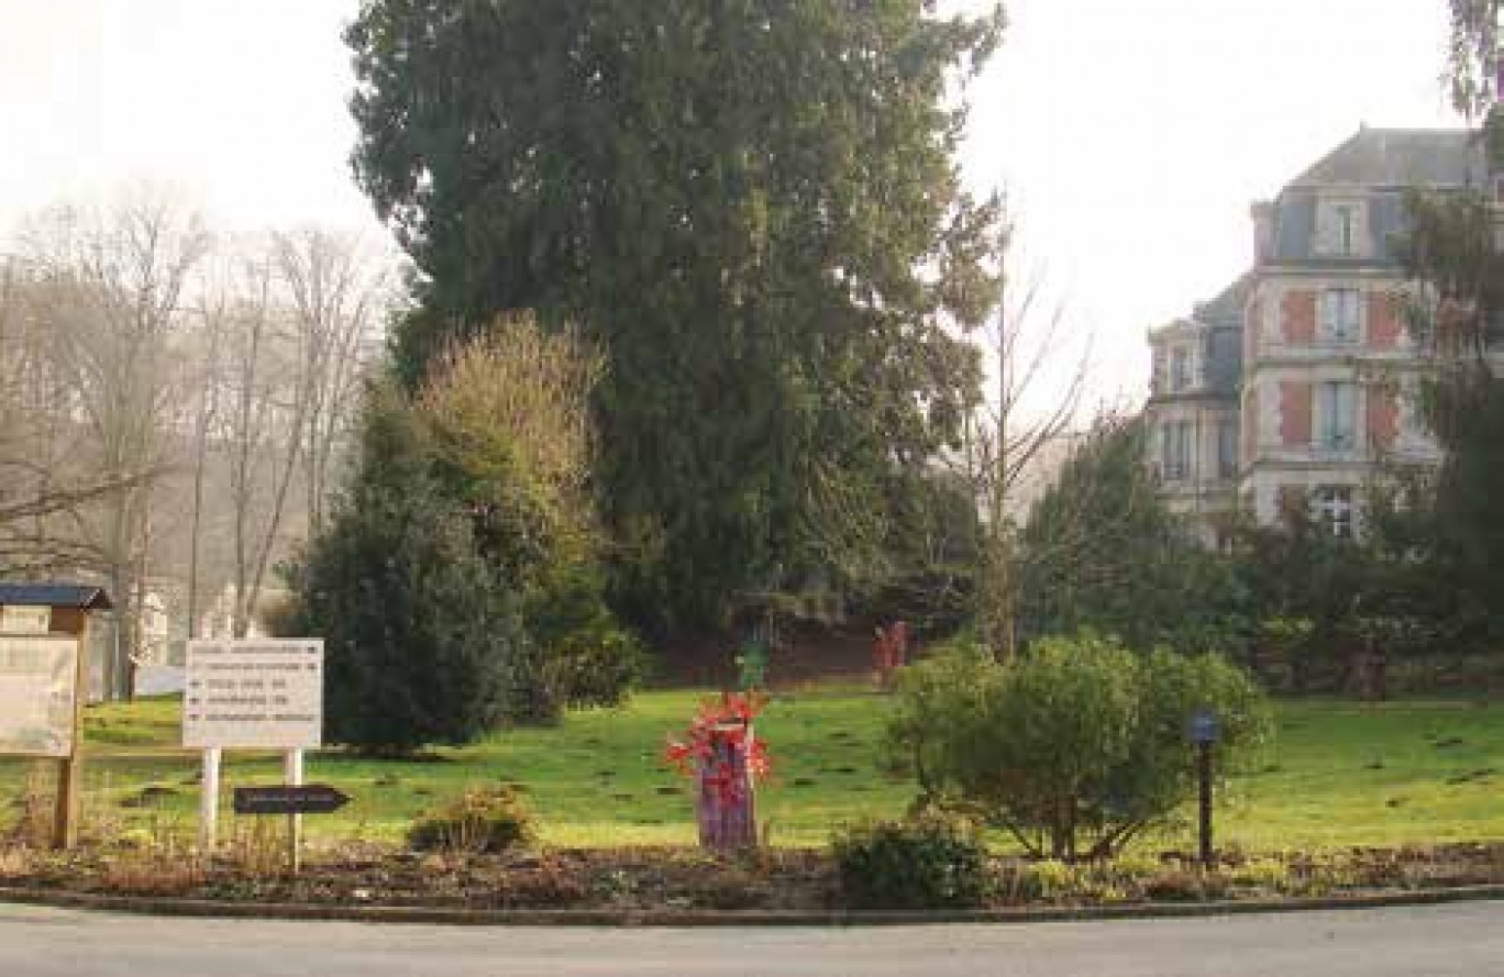
[[[281,750],[287,786],[302,785],[302,752],[323,746],[323,639],[188,642],[183,746],[203,750],[199,846],[211,851],[224,750]],[[299,815],[287,815],[298,869]]]

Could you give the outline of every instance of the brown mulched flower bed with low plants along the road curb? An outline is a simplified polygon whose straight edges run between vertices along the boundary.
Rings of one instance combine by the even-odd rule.
[[[286,876],[277,852],[200,861],[182,851],[84,848],[68,855],[0,843],[0,885],[236,902],[474,909],[838,909],[826,851],[550,849],[499,855],[347,845],[311,852]],[[1426,890],[1504,882],[1504,843],[1224,855],[1202,872],[1184,854],[1104,864],[994,858],[984,906],[1194,902]]]

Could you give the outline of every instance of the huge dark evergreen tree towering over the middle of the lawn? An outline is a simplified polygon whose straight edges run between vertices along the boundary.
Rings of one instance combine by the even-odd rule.
[[[417,385],[498,310],[578,322],[638,619],[878,561],[883,485],[955,436],[997,207],[955,95],[1002,11],[931,0],[368,0],[355,171],[412,256]]]

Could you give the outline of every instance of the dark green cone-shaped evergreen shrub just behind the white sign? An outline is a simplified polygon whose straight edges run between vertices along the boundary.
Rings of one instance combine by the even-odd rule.
[[[362,476],[284,568],[296,610],[283,627],[323,637],[332,743],[374,755],[469,743],[507,714],[504,676],[528,648],[520,601],[427,475],[400,400],[373,397],[361,452]]]

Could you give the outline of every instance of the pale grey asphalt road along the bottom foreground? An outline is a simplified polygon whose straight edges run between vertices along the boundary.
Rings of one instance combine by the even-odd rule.
[[[877,929],[173,920],[0,905],[5,977],[1450,977],[1504,974],[1504,903]]]

